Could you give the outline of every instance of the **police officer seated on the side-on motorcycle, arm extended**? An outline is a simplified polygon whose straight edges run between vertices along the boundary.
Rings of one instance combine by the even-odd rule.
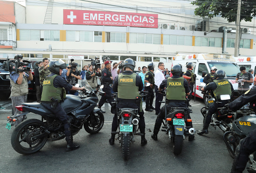
[[[82,90],[84,87],[75,87],[61,76],[62,69],[67,68],[67,64],[62,61],[51,61],[48,70],[52,73],[45,77],[43,81],[42,105],[50,110],[64,124],[64,132],[67,141],[66,151],[71,151],[79,148],[79,145],[73,143],[73,137],[70,129],[69,116],[60,106],[60,101],[66,98],[66,90]],[[53,104],[53,100],[57,101],[57,105]],[[56,103],[56,102],[55,102]],[[55,107],[56,106],[56,107]]]

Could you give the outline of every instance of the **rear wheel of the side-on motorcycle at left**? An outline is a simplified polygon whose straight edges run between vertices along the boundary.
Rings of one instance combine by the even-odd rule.
[[[31,141],[35,135],[42,134],[41,126],[45,124],[39,119],[28,119],[20,123],[13,131],[11,144],[13,149],[24,155],[38,152],[46,143],[47,136]]]

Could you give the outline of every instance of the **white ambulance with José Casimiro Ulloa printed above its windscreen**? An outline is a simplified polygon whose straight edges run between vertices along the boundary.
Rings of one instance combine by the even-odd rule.
[[[193,69],[193,72],[196,74],[196,97],[204,98],[204,95],[201,93],[200,84],[203,82],[202,72],[210,72],[210,69],[215,66],[218,70],[224,70],[226,77],[229,82],[233,85],[233,88],[236,90],[238,83],[236,83],[236,75],[240,72],[239,66],[236,64],[235,59],[232,55],[229,54],[177,54],[172,59],[172,64],[181,64],[184,71],[186,71],[186,63],[194,62],[196,66]],[[194,93],[193,93],[194,95]]]

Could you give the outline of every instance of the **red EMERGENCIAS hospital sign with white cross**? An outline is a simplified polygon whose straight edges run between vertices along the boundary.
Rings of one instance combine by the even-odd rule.
[[[63,24],[158,28],[158,14],[64,9]]]

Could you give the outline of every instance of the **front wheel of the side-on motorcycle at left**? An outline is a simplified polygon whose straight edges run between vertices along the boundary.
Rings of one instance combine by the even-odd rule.
[[[88,120],[84,122],[84,129],[90,134],[98,133],[104,124],[104,115],[98,111],[96,114],[91,113]]]

